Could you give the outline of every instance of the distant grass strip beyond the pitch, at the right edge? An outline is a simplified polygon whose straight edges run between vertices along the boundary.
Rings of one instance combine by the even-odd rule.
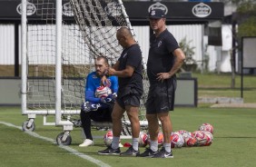
[[[197,74],[199,97],[241,97],[241,75],[235,76],[235,87],[231,88],[231,74]],[[243,102],[256,103],[256,76],[243,76]]]

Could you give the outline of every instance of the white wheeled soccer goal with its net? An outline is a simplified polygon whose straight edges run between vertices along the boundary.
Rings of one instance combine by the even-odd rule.
[[[85,78],[94,71],[95,57],[106,56],[113,64],[120,56],[123,48],[115,33],[121,26],[133,33],[121,0],[22,0],[22,114],[28,116],[23,130],[34,131],[36,115],[44,115],[44,125],[63,126],[57,143],[71,143],[72,118],[84,102]],[[146,79],[144,84],[148,88]],[[147,126],[146,93],[142,127]],[[54,115],[54,122],[48,115]],[[124,116],[123,126],[129,125]]]

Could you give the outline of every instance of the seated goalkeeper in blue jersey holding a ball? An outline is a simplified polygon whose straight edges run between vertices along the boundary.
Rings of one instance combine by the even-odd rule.
[[[95,71],[87,75],[84,90],[85,103],[82,104],[80,113],[86,139],[79,145],[80,147],[94,145],[91,120],[95,122],[112,122],[111,113],[118,89],[118,79],[116,76],[110,76],[106,85],[101,86],[101,78],[108,70],[108,67],[107,58],[99,56],[95,59]],[[111,93],[106,90],[107,87],[111,89]]]

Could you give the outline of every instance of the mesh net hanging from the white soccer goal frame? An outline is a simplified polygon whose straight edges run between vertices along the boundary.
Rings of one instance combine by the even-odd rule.
[[[133,32],[133,28],[121,0],[63,0],[62,6],[61,110],[63,115],[77,115],[84,102],[85,78],[94,71],[94,58],[103,55],[115,63],[123,50],[116,30],[127,26]],[[33,7],[35,13],[29,15]],[[26,19],[26,108],[54,114],[49,111],[54,111],[56,99],[56,1],[28,0]],[[146,80],[144,84],[142,121]]]

